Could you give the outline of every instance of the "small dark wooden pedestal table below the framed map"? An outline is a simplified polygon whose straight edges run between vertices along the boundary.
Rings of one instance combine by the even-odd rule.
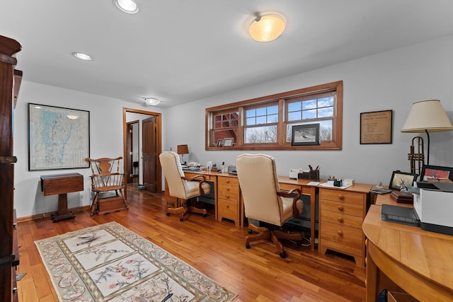
[[[68,209],[67,193],[83,190],[84,176],[79,173],[41,175],[41,191],[44,192],[44,196],[58,194],[58,211],[52,214],[54,222],[76,217]]]

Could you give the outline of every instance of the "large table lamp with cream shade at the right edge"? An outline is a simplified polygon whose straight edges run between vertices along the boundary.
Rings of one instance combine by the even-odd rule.
[[[426,164],[430,164],[430,132],[443,132],[453,130],[453,124],[449,120],[440,100],[421,100],[412,105],[406,122],[401,132],[423,133],[428,137],[428,157]]]

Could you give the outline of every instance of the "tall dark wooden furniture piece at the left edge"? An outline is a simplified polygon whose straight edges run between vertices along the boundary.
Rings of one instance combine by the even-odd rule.
[[[16,40],[0,35],[0,301],[17,301],[17,291],[13,294],[16,274],[13,263],[18,264],[18,252],[14,240],[14,163],[13,156],[13,106],[18,94],[15,82],[21,82],[22,73],[15,73],[15,57],[21,51]],[[16,77],[16,79],[15,79]],[[17,246],[17,245],[16,245]]]

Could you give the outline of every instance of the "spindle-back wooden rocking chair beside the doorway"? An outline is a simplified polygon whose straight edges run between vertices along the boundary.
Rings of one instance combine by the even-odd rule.
[[[91,204],[91,216],[95,214],[106,214],[114,211],[129,209],[125,197],[125,174],[120,173],[120,161],[117,158],[86,158],[90,163],[91,172],[91,191],[95,192],[93,203]],[[101,193],[108,194],[115,192],[108,197],[100,198]]]

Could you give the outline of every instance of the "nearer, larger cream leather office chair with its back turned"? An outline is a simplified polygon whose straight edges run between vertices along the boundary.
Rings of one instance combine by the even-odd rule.
[[[278,185],[275,159],[265,154],[241,154],[236,158],[236,170],[241,187],[245,214],[248,219],[265,223],[265,227],[248,225],[246,248],[256,240],[272,240],[280,257],[286,258],[278,238],[295,240],[302,243],[302,233],[285,233],[281,226],[292,217],[299,217],[304,203],[299,199],[301,192],[293,189],[281,192]],[[252,232],[257,232],[252,234]]]

